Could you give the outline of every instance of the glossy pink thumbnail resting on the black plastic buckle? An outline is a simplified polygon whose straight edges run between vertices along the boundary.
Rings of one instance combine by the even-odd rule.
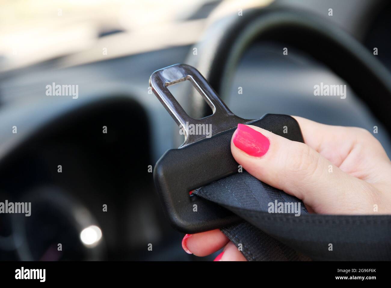
[[[238,124],[233,144],[251,156],[260,157],[269,150],[270,141],[262,133],[243,124]]]

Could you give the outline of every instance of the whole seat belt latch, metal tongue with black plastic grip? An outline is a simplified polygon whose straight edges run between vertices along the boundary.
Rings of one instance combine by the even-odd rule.
[[[210,106],[213,114],[193,119],[179,105],[167,88],[189,80]],[[275,134],[303,142],[300,127],[291,116],[265,114],[259,120],[247,120],[233,114],[197,69],[175,64],[152,73],[149,85],[185,134],[178,149],[165,152],[154,167],[156,190],[172,226],[185,233],[222,228],[241,219],[191,191],[240,172],[241,166],[231,154],[231,138],[237,125],[251,124]],[[206,133],[193,133],[189,127]],[[286,132],[286,133],[285,133]],[[229,191],[227,191],[229,193]]]

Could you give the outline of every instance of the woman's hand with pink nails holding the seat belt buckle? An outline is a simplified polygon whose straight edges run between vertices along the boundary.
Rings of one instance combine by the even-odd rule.
[[[391,214],[391,161],[370,132],[294,118],[305,144],[239,124],[231,139],[235,160],[261,181],[301,199],[310,213]],[[246,261],[218,229],[182,240],[183,249],[197,256],[224,246],[215,261]]]

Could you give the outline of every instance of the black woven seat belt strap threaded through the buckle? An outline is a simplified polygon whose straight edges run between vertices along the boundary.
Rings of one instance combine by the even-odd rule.
[[[308,214],[301,205],[300,216],[274,213],[275,210],[269,213],[269,203],[300,202],[282,191],[276,195],[273,187],[245,171],[193,193],[224,206],[245,220],[236,226],[222,228],[222,231],[235,245],[242,244],[242,253],[248,260],[308,259],[303,255],[313,260],[391,260],[389,215]]]

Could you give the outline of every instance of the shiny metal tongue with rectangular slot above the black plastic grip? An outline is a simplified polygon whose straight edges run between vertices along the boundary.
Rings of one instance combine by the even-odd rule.
[[[206,103],[208,103],[213,111],[212,115],[201,119],[191,118],[167,88],[169,85],[186,80],[189,80],[190,83],[192,83],[194,88],[201,94]],[[236,127],[238,123],[244,124],[251,121],[233,114],[201,73],[190,65],[175,64],[153,72],[151,78],[149,78],[149,86],[151,86],[156,97],[170,113],[178,126],[180,128],[183,127],[185,142],[183,142],[181,147],[232,129]],[[193,124],[194,127],[201,127],[201,130],[203,129],[203,131],[206,131],[208,128],[210,128],[211,131],[208,132],[208,135],[190,133],[188,127],[191,124]],[[206,125],[208,125],[208,127],[206,127]]]

